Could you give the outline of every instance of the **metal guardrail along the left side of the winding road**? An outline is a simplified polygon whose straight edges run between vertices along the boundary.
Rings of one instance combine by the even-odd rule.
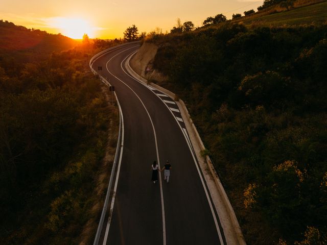
[[[90,62],[89,62],[89,66],[90,66],[91,71],[93,72],[94,75],[99,76],[101,82],[103,82],[107,86],[111,86],[110,83],[104,77],[102,77],[100,74],[98,74],[98,72],[95,69],[92,68],[92,65],[93,65],[94,61],[97,58],[101,57],[102,55],[104,55],[106,53],[109,53],[111,51],[117,50],[117,49],[119,49],[121,47],[124,47],[124,46],[127,46],[127,45],[136,44],[138,42],[139,41],[128,42],[128,43],[124,43],[124,44],[121,44],[121,45],[113,46],[113,47],[107,48],[106,50],[104,50],[104,51],[96,54],[95,56],[93,56],[90,59]],[[118,159],[119,150],[121,148],[121,138],[122,138],[122,112],[121,112],[121,107],[120,107],[120,104],[119,104],[119,101],[118,101],[118,98],[117,98],[117,95],[116,95],[115,92],[114,92],[114,95],[115,95],[116,101],[117,101],[118,106],[119,106],[119,133],[118,133],[118,140],[117,140],[116,152],[115,152],[115,156],[114,156],[114,160],[113,160],[113,165],[112,165],[112,169],[111,169],[110,180],[109,180],[108,189],[107,189],[107,193],[106,193],[106,199],[104,201],[104,205],[103,205],[103,208],[102,208],[102,213],[101,213],[101,217],[100,217],[100,221],[99,221],[99,225],[98,225],[98,229],[97,229],[97,234],[96,234],[96,237],[95,237],[94,243],[93,243],[94,245],[98,245],[99,244],[99,240],[100,240],[101,231],[102,231],[102,228],[103,228],[103,223],[104,223],[106,211],[108,209],[110,192],[111,192],[111,186],[112,186],[112,182],[113,182],[113,178],[114,178],[114,172],[115,172],[116,162],[117,162],[117,159]]]

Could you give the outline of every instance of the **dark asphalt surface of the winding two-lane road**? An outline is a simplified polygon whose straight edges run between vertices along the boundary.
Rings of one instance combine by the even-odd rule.
[[[118,48],[92,64],[115,87],[124,131],[112,216],[100,244],[226,244],[177,105],[124,67],[138,48]],[[172,165],[170,181],[162,172],[154,184],[151,164],[162,168],[166,160]]]

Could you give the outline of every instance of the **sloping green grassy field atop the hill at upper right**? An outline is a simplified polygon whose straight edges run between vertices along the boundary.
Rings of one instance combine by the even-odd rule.
[[[260,17],[253,16],[253,18],[242,18],[234,21],[242,22],[246,26],[256,23],[263,26],[298,26],[300,24],[323,23],[327,21],[327,2],[301,7],[282,13]]]

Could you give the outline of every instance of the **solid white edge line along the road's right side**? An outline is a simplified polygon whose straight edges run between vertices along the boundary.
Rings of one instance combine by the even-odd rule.
[[[136,53],[136,52],[134,52],[134,53]],[[134,53],[133,53],[133,54],[134,54]],[[133,54],[131,54],[129,57],[131,57]],[[124,69],[123,69],[123,70],[124,70]],[[124,72],[125,72],[125,74],[127,74],[129,77],[133,78],[136,82],[141,83],[141,84],[144,85],[145,87],[148,87],[148,85],[145,85],[144,83],[142,83],[141,81],[139,81],[137,78],[134,78],[133,76],[129,75],[125,70],[124,70]],[[152,90],[150,90],[150,91],[152,91]],[[153,92],[153,91],[152,91],[152,92]],[[157,93],[155,93],[155,92],[153,92],[153,93],[154,93],[155,95],[158,96]],[[168,96],[168,95],[166,95],[166,96]],[[158,96],[158,97],[159,97],[159,96]],[[160,98],[160,100],[162,101],[161,97],[159,97],[159,98]],[[164,103],[164,102],[162,101],[162,103]],[[209,197],[208,191],[207,191],[207,189],[206,189],[206,187],[205,187],[204,180],[203,180],[203,178],[202,178],[202,175],[201,175],[201,172],[200,172],[200,169],[199,169],[199,166],[198,166],[198,163],[197,163],[196,157],[195,157],[194,152],[193,152],[192,143],[189,142],[189,140],[188,140],[188,136],[186,136],[187,134],[185,134],[185,132],[182,130],[182,127],[180,126],[180,124],[179,124],[178,120],[176,119],[174,113],[170,110],[171,108],[170,108],[166,103],[164,103],[164,105],[165,105],[165,106],[169,109],[169,111],[172,113],[172,115],[173,115],[173,117],[175,118],[175,120],[176,120],[176,122],[177,122],[177,124],[178,124],[178,126],[179,126],[179,128],[180,128],[180,130],[181,130],[181,132],[183,133],[183,135],[184,135],[184,137],[185,137],[186,143],[188,143],[188,146],[189,146],[190,152],[191,152],[191,154],[192,154],[192,157],[193,157],[193,160],[194,160],[195,166],[196,166],[196,168],[197,168],[197,170],[198,170],[198,174],[199,174],[200,179],[201,179],[202,186],[203,186],[203,188],[204,188],[204,192],[205,192],[205,195],[206,195],[207,201],[208,201],[208,203],[209,203],[209,207],[210,207],[211,212],[212,212],[212,214],[213,214],[213,218],[214,218],[214,222],[215,222],[215,225],[216,225],[217,233],[218,233],[218,236],[219,236],[220,244],[224,244],[224,241],[223,241],[223,239],[222,239],[222,235],[221,235],[221,232],[220,232],[219,224],[218,224],[218,221],[217,221],[217,217],[216,217],[216,214],[215,214],[215,211],[214,211],[214,208],[213,208],[212,202],[211,202],[211,200],[210,200],[210,197]],[[219,218],[219,220],[220,220],[218,210],[216,209],[216,211],[217,211],[218,218]],[[223,227],[222,227],[222,229],[223,229]]]

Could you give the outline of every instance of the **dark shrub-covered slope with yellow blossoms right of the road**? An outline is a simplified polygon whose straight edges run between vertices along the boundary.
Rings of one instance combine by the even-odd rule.
[[[321,21],[223,21],[146,40],[148,68],[168,77],[153,82],[186,103],[247,244],[327,244],[326,36]]]

